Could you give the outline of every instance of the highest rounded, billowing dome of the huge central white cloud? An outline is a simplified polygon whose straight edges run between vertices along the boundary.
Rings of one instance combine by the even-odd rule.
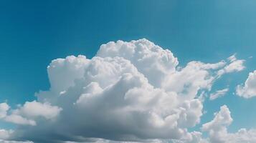
[[[179,61],[169,49],[162,49],[146,39],[138,41],[113,41],[103,44],[96,56],[123,57],[147,77],[154,87],[161,87],[166,74],[174,72]],[[157,75],[157,76],[156,76]]]

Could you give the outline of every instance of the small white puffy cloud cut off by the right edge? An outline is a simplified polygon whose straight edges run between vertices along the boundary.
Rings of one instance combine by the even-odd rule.
[[[250,72],[244,85],[237,86],[237,95],[245,98],[256,96],[256,70]]]

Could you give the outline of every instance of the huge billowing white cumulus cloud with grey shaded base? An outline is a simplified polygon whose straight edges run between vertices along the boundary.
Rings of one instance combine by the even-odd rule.
[[[32,125],[20,125],[9,139],[203,142],[202,133],[188,131],[202,117],[199,94],[222,74],[239,71],[237,62],[243,63],[191,61],[177,68],[171,51],[146,39],[103,44],[93,59],[54,59],[47,67],[50,89],[4,117]]]

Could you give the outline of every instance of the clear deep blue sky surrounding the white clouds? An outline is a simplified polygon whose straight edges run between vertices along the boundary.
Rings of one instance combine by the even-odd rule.
[[[254,0],[1,0],[0,101],[15,106],[49,89],[46,69],[52,59],[91,58],[108,41],[146,38],[170,49],[181,66],[191,60],[217,62],[234,53],[245,59],[244,71],[217,81],[213,90],[229,85],[230,92],[205,102],[202,123],[227,104],[234,117],[232,131],[256,127],[256,99],[232,94],[256,69],[255,57],[248,58],[256,53],[255,7]]]

